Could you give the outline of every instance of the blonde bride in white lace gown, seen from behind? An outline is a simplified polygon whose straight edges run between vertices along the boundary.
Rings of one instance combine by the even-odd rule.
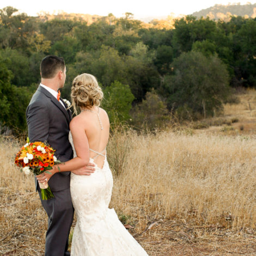
[[[71,173],[70,192],[77,216],[71,256],[145,256],[148,254],[118,220],[114,209],[108,209],[113,177],[106,151],[109,120],[99,107],[102,97],[93,75],[82,74],[74,79],[72,106],[76,114],[77,107],[81,110],[70,123],[69,140],[75,157],[51,170],[54,174],[78,169],[88,162],[95,164],[91,175]]]

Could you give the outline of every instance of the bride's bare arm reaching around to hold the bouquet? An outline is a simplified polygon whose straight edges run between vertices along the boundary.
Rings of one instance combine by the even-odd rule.
[[[83,125],[83,122],[80,118],[75,117],[72,119],[70,123],[70,131],[72,134],[75,150],[77,156],[74,159],[71,159],[67,162],[60,163],[54,165],[50,173],[44,172],[44,174],[40,174],[36,176],[39,182],[44,182],[45,179],[47,181],[51,178],[51,176],[58,172],[66,172],[70,170],[77,170],[84,166],[87,166],[89,163],[89,143],[88,138],[86,136],[86,127]],[[92,171],[93,172],[93,171]]]

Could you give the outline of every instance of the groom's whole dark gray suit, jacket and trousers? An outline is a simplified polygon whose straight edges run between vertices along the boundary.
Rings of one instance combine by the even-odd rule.
[[[28,137],[31,142],[47,141],[56,150],[55,155],[58,160],[66,162],[72,159],[73,151],[69,143],[70,110],[66,111],[51,93],[39,86],[27,107],[26,115]],[[35,184],[41,198],[36,178]],[[48,215],[45,255],[70,255],[67,252],[68,237],[74,217],[70,196],[70,172],[54,174],[48,185],[54,198],[41,199],[42,206]]]

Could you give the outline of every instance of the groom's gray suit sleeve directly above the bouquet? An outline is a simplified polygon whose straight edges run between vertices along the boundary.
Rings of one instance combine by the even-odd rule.
[[[49,113],[45,105],[33,103],[27,108],[29,141],[47,141],[49,133]]]

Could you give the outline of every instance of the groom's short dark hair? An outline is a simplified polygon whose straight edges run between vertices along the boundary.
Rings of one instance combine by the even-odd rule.
[[[42,78],[53,78],[59,70],[64,71],[65,62],[62,57],[48,55],[42,59],[40,72]]]

